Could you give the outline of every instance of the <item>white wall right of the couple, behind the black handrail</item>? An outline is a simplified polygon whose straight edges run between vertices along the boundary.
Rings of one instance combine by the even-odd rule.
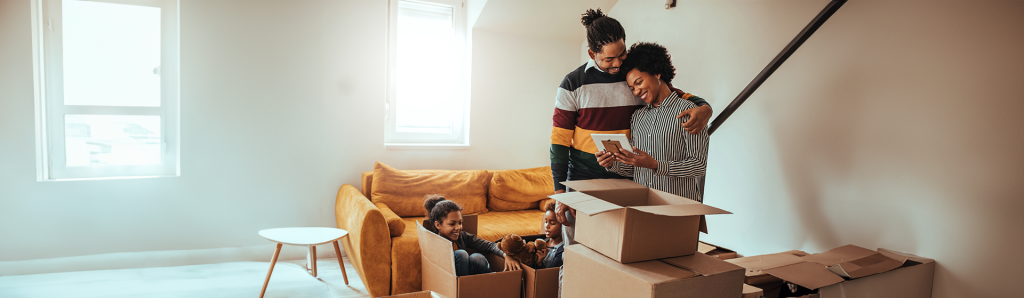
[[[620,1],[627,43],[673,54],[716,113],[827,1]],[[933,297],[1024,278],[1024,3],[844,5],[712,137],[708,242],[745,255],[845,244],[935,258]]]

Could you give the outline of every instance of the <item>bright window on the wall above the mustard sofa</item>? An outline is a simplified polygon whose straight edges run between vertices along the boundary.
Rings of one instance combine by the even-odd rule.
[[[385,143],[469,144],[469,51],[462,0],[391,0]]]

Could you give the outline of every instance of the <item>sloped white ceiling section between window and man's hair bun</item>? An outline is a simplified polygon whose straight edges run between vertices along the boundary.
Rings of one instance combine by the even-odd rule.
[[[618,0],[485,0],[473,29],[583,42],[580,17],[588,8],[607,13]]]

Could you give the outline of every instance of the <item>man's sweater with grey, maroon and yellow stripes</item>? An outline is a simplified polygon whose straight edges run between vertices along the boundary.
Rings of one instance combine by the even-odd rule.
[[[670,86],[671,87],[671,86]],[[680,97],[697,105],[703,98],[684,93]],[[633,112],[646,102],[633,95],[625,76],[602,72],[594,60],[565,75],[555,94],[555,115],[551,128],[551,174],[555,190],[565,189],[559,182],[587,178],[612,178],[594,154],[594,133],[630,133]]]

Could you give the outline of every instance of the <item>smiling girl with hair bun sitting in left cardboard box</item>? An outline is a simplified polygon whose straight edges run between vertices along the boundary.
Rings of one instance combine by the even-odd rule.
[[[452,241],[456,275],[490,272],[490,264],[483,255],[478,253],[470,255],[466,249],[505,257],[506,271],[519,269],[519,261],[505,255],[498,249],[498,245],[462,230],[462,207],[459,204],[447,201],[439,195],[430,195],[424,200],[423,207],[427,210],[427,219],[423,221],[424,227]]]

